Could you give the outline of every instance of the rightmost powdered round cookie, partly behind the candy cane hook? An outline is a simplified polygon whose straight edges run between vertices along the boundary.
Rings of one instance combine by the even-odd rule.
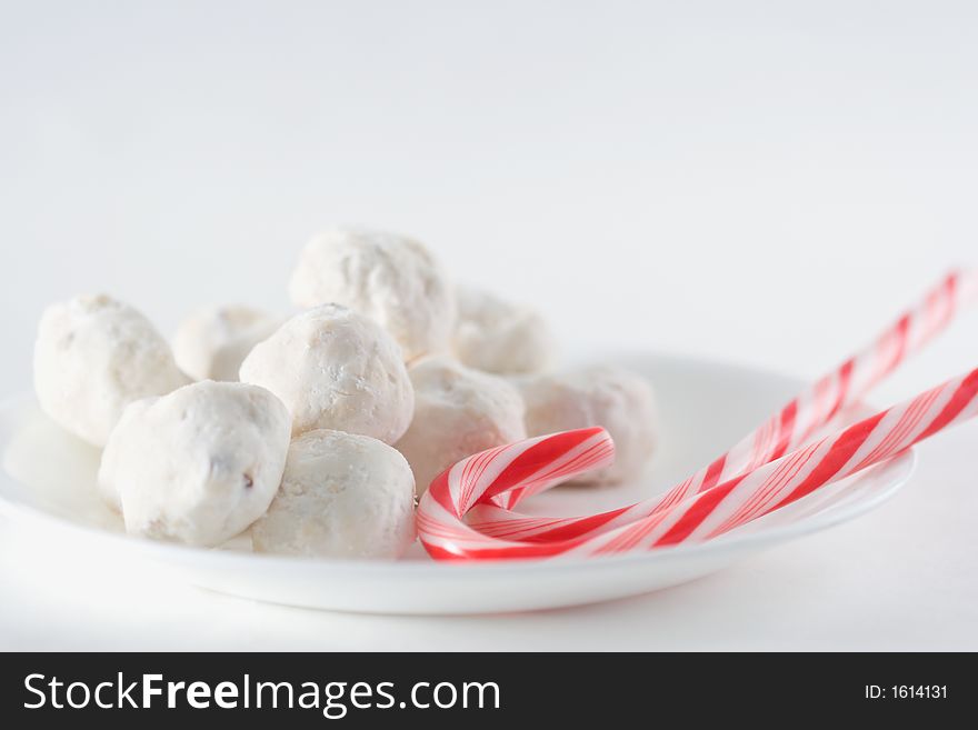
[[[656,446],[656,403],[648,381],[607,366],[518,381],[527,433],[603,426],[615,441],[615,463],[579,481],[613,483],[641,472]]]

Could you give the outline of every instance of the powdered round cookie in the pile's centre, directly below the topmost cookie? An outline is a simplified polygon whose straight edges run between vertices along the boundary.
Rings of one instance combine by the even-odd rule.
[[[292,413],[292,433],[335,429],[393,443],[415,407],[397,342],[373,320],[322,304],[282,324],[241,363]]]

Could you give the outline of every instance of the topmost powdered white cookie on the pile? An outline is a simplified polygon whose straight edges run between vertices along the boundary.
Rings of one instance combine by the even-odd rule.
[[[298,307],[336,302],[370,317],[406,360],[446,351],[455,326],[455,292],[428,249],[383,231],[333,228],[316,236],[289,293]]]

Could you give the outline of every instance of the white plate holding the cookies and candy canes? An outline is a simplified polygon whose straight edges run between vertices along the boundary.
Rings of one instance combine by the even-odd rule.
[[[602,358],[608,361],[609,358]],[[558,488],[528,512],[572,514],[630,503],[676,483],[732,444],[800,388],[790,378],[690,358],[611,358],[658,393],[661,443],[645,478],[616,488]],[[706,544],[597,560],[445,564],[416,544],[399,562],[313,561],[127,538],[94,492],[99,452],[61,431],[24,396],[0,408],[0,507],[90,562],[136,561],[196,586],[262,601],[388,613],[479,613],[557,608],[643,593],[699,578],[792,538],[850,520],[902,486],[905,453]],[[132,564],[132,563],[130,563]]]

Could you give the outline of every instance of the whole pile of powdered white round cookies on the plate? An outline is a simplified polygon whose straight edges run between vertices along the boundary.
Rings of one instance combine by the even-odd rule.
[[[531,308],[456,286],[408,237],[336,228],[302,250],[301,311],[244,306],[188,317],[172,347],[108,296],[48,308],[34,348],[44,412],[103,448],[99,491],[132,534],[216,547],[397,558],[416,494],[458,460],[586,426],[640,473],[652,391],[616,367],[556,369]]]

